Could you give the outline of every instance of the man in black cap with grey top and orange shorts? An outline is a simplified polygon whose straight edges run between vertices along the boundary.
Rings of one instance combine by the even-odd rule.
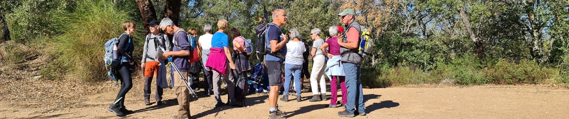
[[[152,83],[152,76],[154,76],[154,73],[156,73],[156,104],[162,103],[163,89],[168,88],[165,66],[167,63],[166,60],[160,58],[158,54],[163,53],[162,50],[160,50],[160,47],[166,51],[172,51],[172,46],[170,46],[170,40],[168,40],[168,37],[165,34],[160,33],[158,28],[159,25],[160,23],[156,20],[152,20],[148,23],[151,33],[146,35],[143,47],[144,51],[142,53],[141,67],[143,68],[142,72],[145,80],[145,105],[150,105],[150,85]]]

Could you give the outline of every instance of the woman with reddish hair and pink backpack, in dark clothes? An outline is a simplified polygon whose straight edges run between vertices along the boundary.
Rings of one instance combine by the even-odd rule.
[[[239,74],[241,75],[240,77],[244,77],[245,79],[247,79],[246,77],[247,74],[249,73],[249,71],[251,70],[251,63],[249,63],[249,55],[247,55],[247,48],[245,46],[245,39],[243,36],[241,36],[241,33],[239,32],[238,29],[233,28],[231,30],[229,30],[229,34],[231,36],[231,39],[233,39],[233,50],[236,53],[236,59],[233,61],[233,63],[235,63],[236,66],[236,70],[234,70],[234,74]],[[237,76],[237,75],[236,75]],[[239,76],[238,76],[239,77]],[[237,81],[237,80],[235,80]],[[244,106],[244,97],[245,95],[247,95],[247,91],[245,83],[247,83],[246,81],[248,80],[243,80],[241,82],[235,82],[235,85],[237,85],[240,90],[239,92],[235,92],[236,95],[236,102],[233,103],[231,106],[232,107],[243,107]],[[244,91],[245,90],[245,91]],[[239,96],[237,96],[239,95]]]

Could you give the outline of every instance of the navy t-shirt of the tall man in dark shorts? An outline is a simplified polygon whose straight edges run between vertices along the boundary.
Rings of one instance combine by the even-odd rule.
[[[269,47],[269,49],[271,49],[271,42],[272,40],[277,40],[278,42],[283,41],[283,36],[282,36],[282,32],[281,32],[281,28],[278,27],[277,25],[274,25],[274,23],[271,23],[273,25],[269,25],[269,28],[267,28],[267,34],[266,34],[266,45],[267,47]],[[267,51],[270,52],[270,51]],[[286,56],[286,45],[284,45],[281,50],[278,50],[277,52],[281,52],[281,54],[283,56]],[[265,61],[281,61],[283,62],[284,59],[279,58],[277,56],[273,56],[273,55],[265,55]]]

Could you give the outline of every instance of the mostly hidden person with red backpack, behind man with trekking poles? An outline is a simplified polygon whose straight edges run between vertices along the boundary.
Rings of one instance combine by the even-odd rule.
[[[196,39],[197,30],[194,28],[189,29],[188,35],[189,35],[189,38]],[[197,43],[197,47],[200,47],[199,42]],[[201,52],[200,52],[200,54],[201,54]],[[196,61],[196,62],[190,63],[190,65],[191,65],[191,68],[188,72],[188,78],[187,79],[189,81],[189,85],[190,85],[189,87],[191,87],[190,89],[192,89],[195,92],[197,90],[200,90],[199,88],[197,88],[197,85],[194,85],[195,84],[194,82],[200,81],[199,77],[200,77],[200,72],[201,72],[201,64],[199,61]]]

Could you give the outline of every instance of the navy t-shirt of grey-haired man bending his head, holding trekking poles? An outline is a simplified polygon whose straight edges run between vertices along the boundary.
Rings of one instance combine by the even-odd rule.
[[[177,31],[176,31],[177,32]],[[191,47],[189,46],[188,36],[185,32],[175,33],[174,35],[174,48],[172,51],[187,51],[191,52]],[[187,72],[191,65],[189,63],[189,56],[172,56],[172,60],[174,60],[174,64],[178,67],[180,72]]]

